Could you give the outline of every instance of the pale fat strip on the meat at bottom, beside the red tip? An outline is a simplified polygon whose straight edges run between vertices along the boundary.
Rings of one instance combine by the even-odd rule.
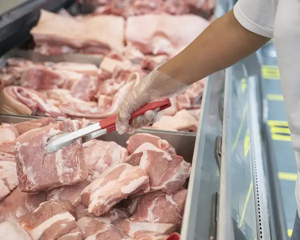
[[[134,232],[139,230],[156,231],[159,233],[166,233],[170,228],[174,227],[171,223],[155,223],[155,222],[141,222],[141,221],[128,221],[130,230],[129,236],[133,236]]]

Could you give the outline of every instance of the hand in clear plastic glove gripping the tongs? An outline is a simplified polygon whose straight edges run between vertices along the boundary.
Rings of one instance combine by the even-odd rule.
[[[129,124],[131,113],[144,104],[163,100],[181,94],[188,85],[174,80],[164,72],[157,69],[146,75],[125,97],[116,119],[116,130],[119,134],[124,132],[133,133],[135,129],[147,126],[158,120],[156,111],[146,111],[145,114],[132,119]]]

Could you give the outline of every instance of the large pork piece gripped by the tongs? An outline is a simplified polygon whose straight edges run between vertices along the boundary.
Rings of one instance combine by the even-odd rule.
[[[81,139],[53,153],[46,153],[47,139],[81,128],[79,120],[65,120],[29,130],[16,141],[16,165],[21,191],[37,192],[71,185],[87,178]]]

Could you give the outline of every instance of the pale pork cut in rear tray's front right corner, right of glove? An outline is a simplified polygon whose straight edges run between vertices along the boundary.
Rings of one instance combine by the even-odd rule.
[[[159,121],[152,124],[153,128],[164,130],[196,132],[198,121],[186,110],[182,109],[173,116],[163,115]]]

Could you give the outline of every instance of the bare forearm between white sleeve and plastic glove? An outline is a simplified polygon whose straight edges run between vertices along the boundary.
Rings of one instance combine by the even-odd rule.
[[[233,65],[268,40],[245,29],[231,10],[212,22],[192,43],[158,70],[177,81],[192,84]]]

